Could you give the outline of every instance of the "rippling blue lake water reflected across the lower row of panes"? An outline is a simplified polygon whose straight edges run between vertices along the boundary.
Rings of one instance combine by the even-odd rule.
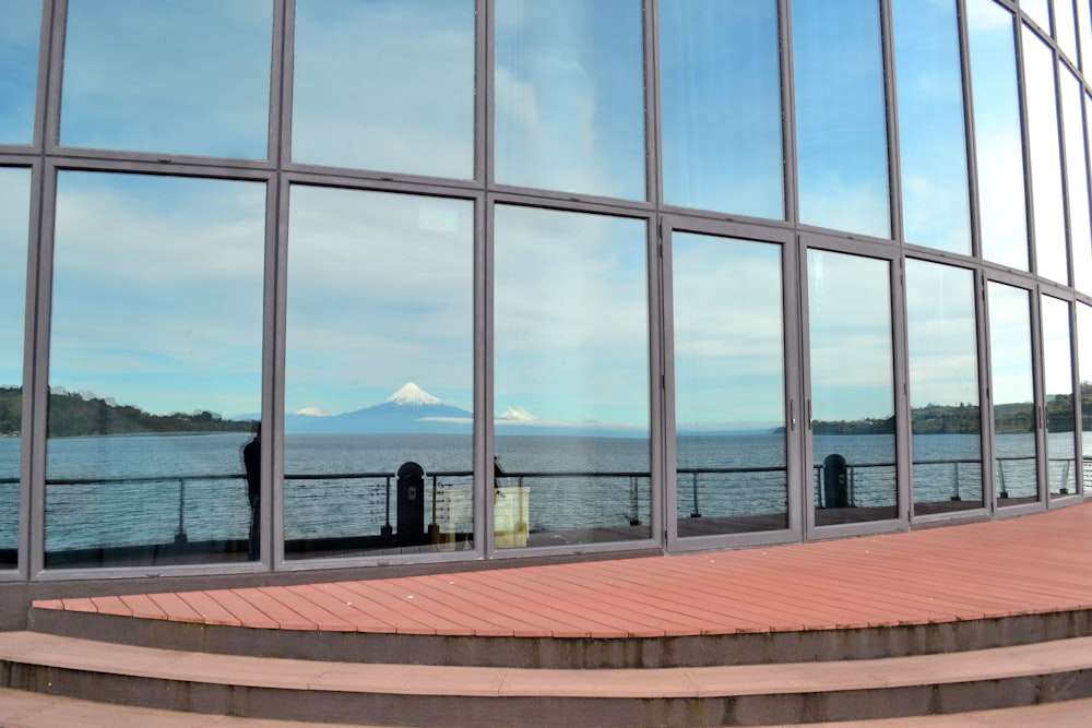
[[[241,478],[245,433],[127,435],[50,440],[46,492],[46,549],[59,551],[170,541],[245,538],[250,512]],[[678,512],[707,515],[784,510],[783,438],[772,434],[679,439]],[[1052,485],[1076,479],[1072,435],[1052,434]],[[974,435],[917,438],[918,501],[946,501],[959,491],[981,498]],[[1021,484],[1034,494],[1031,435],[999,435],[1006,488]],[[496,439],[510,477],[501,485],[532,489],[532,532],[649,523],[649,447],[639,439],[507,437]],[[894,492],[892,439],[886,435],[817,435],[817,457],[838,452],[855,468],[858,505],[886,504]],[[1088,456],[1088,455],[1087,455]],[[285,441],[285,537],[378,533],[388,518],[387,493],[399,466],[415,461],[426,490],[437,492],[437,518],[456,529],[473,525],[471,439],[466,435],[290,435]],[[0,478],[15,480],[19,439],[0,439]],[[746,472],[733,472],[745,469]],[[691,473],[697,470],[698,473]],[[711,473],[710,470],[722,470]],[[339,475],[353,477],[322,477]],[[306,476],[306,477],[305,477]],[[521,480],[522,477],[522,480]],[[818,478],[816,487],[818,488]],[[1030,485],[1029,485],[1030,484]],[[544,496],[548,493],[548,496]],[[391,504],[391,518],[394,517]],[[431,503],[429,503],[431,509]],[[427,513],[427,520],[431,513]],[[0,482],[0,548],[14,548],[17,482]]]

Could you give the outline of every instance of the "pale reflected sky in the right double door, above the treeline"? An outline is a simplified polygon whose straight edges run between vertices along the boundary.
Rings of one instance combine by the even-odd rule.
[[[894,414],[890,263],[808,250],[812,417]]]

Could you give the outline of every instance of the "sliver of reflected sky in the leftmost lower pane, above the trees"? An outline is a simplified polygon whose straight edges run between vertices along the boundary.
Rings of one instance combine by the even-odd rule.
[[[0,167],[0,386],[23,384],[31,170]]]

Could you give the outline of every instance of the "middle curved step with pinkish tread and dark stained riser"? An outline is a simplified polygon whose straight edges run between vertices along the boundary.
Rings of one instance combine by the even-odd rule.
[[[867,660],[554,670],[207,654],[0,633],[0,687],[254,719],[377,726],[783,725],[1092,696],[1092,637]]]

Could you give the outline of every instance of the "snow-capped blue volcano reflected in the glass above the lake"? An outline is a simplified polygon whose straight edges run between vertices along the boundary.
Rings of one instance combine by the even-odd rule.
[[[285,415],[287,434],[467,434],[474,415],[413,382],[383,402],[343,415]]]

